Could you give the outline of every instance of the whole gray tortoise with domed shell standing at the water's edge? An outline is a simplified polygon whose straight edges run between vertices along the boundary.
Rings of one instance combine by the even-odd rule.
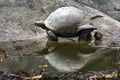
[[[77,37],[78,41],[91,40],[91,32],[96,28],[92,23],[82,25],[83,10],[76,7],[61,7],[52,12],[45,21],[36,21],[35,26],[46,30],[48,38],[58,41],[58,37]]]

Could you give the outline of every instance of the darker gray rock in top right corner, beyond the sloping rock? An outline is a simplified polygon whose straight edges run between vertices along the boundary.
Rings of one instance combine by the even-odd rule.
[[[120,0],[75,0],[78,3],[98,9],[120,21]]]

